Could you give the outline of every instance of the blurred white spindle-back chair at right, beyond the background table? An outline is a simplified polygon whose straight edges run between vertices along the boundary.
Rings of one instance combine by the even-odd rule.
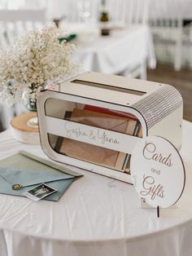
[[[163,61],[173,62],[177,71],[182,64],[183,4],[181,0],[153,0],[150,8],[157,56]]]

